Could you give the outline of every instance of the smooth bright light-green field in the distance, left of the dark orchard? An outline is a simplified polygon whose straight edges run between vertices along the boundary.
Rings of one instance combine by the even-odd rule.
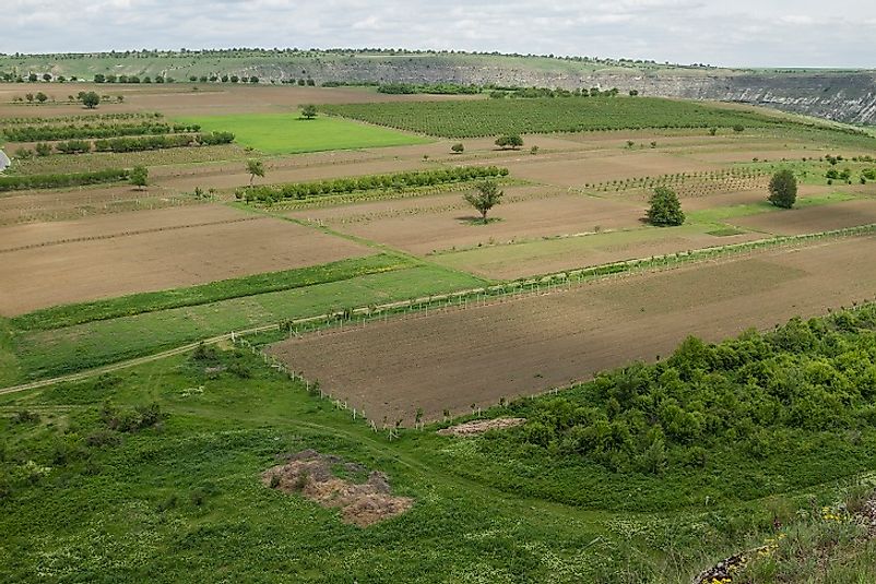
[[[304,120],[297,114],[185,118],[204,131],[234,132],[237,143],[265,154],[425,144],[429,140],[338,118]]]

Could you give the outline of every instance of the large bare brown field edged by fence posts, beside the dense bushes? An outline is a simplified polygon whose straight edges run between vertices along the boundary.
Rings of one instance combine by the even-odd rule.
[[[311,334],[270,351],[379,421],[427,419],[872,299],[876,238],[595,282],[549,295]],[[331,354],[331,359],[325,355]]]

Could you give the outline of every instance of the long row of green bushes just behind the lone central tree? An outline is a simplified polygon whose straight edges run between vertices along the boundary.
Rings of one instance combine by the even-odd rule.
[[[372,189],[401,190],[412,187],[429,187],[507,175],[508,169],[498,166],[460,166],[441,170],[393,172],[390,175],[371,175],[316,182],[247,187],[238,189],[236,195],[238,199],[246,199],[247,201],[281,201],[283,199],[306,199],[308,196],[343,194]]]

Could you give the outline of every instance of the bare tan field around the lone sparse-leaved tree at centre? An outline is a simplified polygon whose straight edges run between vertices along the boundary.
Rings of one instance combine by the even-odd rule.
[[[505,201],[476,223],[477,213],[462,192],[343,207],[299,211],[291,216],[317,219],[365,239],[425,254],[489,242],[575,235],[640,225],[644,207],[626,202],[569,194],[556,189],[506,187]]]

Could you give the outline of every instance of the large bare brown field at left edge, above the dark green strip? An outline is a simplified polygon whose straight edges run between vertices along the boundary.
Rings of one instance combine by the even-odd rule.
[[[95,239],[99,237],[99,239]],[[367,255],[291,222],[198,205],[5,227],[0,314]]]

